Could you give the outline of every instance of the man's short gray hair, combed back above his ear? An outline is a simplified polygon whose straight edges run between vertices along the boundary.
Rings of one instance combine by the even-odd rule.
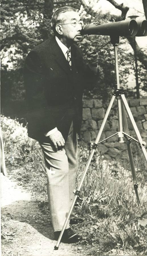
[[[56,36],[58,36],[58,32],[56,31],[56,25],[65,22],[65,18],[63,18],[63,17],[60,18],[61,14],[69,12],[69,11],[77,12],[76,9],[74,9],[73,7],[65,6],[65,7],[61,7],[59,9],[57,9],[53,13],[52,18],[51,18],[51,24],[52,24],[53,32]]]

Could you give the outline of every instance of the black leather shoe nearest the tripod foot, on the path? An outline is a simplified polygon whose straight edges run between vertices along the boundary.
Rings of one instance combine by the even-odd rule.
[[[55,240],[58,240],[60,233],[61,231],[54,232]],[[63,243],[78,243],[81,240],[82,236],[75,234],[71,228],[65,229],[61,238]]]

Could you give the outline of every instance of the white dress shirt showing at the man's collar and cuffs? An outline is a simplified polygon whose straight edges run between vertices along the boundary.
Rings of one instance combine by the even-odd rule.
[[[58,38],[57,36],[55,36],[55,39],[56,39],[56,41],[57,41],[57,44],[59,45],[59,47],[60,47],[61,50],[63,51],[63,54],[64,54],[64,56],[65,56],[65,58],[66,58],[66,60],[67,60],[67,54],[66,54],[66,53],[67,53],[67,50],[68,50],[68,49],[71,49],[71,47],[67,48],[67,46],[65,46],[65,45],[59,40],[59,38]],[[71,63],[71,64],[72,64],[72,63]],[[97,73],[98,73],[98,65],[97,65],[97,67],[93,67],[93,66],[91,66],[91,65],[88,64],[88,66],[89,66],[89,68],[94,72],[94,74],[97,75]],[[47,133],[44,133],[44,135],[47,137],[47,136],[53,134],[55,131],[58,131],[57,127],[55,127],[54,129],[50,130],[50,131],[47,132]]]

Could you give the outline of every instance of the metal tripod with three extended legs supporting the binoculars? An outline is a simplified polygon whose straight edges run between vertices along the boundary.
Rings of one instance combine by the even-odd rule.
[[[116,72],[117,90],[112,95],[112,98],[111,98],[111,101],[110,101],[109,106],[107,108],[107,111],[105,113],[105,117],[103,119],[102,125],[101,125],[100,130],[98,132],[98,135],[96,137],[96,141],[95,141],[95,143],[92,146],[90,157],[88,159],[88,162],[86,164],[86,168],[85,168],[84,173],[82,175],[82,178],[80,180],[80,184],[78,185],[78,188],[75,189],[75,191],[73,192],[75,194],[74,201],[73,201],[73,203],[72,203],[72,205],[70,207],[70,210],[69,210],[69,212],[67,214],[65,223],[64,223],[63,228],[61,230],[61,234],[60,234],[59,239],[58,239],[58,241],[56,243],[56,246],[54,247],[55,250],[58,250],[58,248],[59,248],[59,243],[60,243],[61,238],[63,236],[63,232],[64,232],[64,230],[66,228],[67,222],[68,222],[69,217],[71,215],[71,212],[73,210],[73,207],[74,207],[74,204],[76,202],[76,199],[77,199],[77,197],[78,197],[78,195],[80,193],[80,189],[82,187],[82,183],[84,181],[84,178],[85,178],[86,173],[88,171],[88,168],[90,166],[90,162],[92,160],[92,157],[94,155],[94,152],[95,152],[98,144],[102,143],[103,141],[105,141],[105,140],[107,140],[107,139],[109,139],[109,138],[111,138],[111,137],[113,137],[115,135],[118,135],[119,143],[124,143],[124,137],[127,139],[127,148],[128,148],[128,154],[129,154],[129,160],[130,160],[130,165],[131,165],[133,182],[134,182],[134,190],[135,190],[135,193],[136,193],[136,198],[137,198],[138,205],[140,207],[140,199],[139,199],[139,195],[138,195],[138,181],[137,181],[137,177],[136,177],[136,172],[135,172],[134,161],[133,161],[133,156],[132,156],[132,150],[131,150],[130,143],[131,143],[131,140],[134,140],[134,141],[136,141],[139,144],[139,146],[142,149],[142,152],[143,152],[143,154],[145,156],[145,159],[147,161],[147,152],[146,152],[146,149],[145,149],[146,143],[141,138],[141,135],[139,133],[139,130],[138,130],[137,125],[136,125],[136,123],[134,121],[134,118],[133,118],[133,115],[132,115],[131,110],[129,108],[129,105],[127,103],[127,100],[125,98],[125,95],[124,95],[123,91],[120,89],[120,84],[119,84],[119,68],[118,68],[118,55],[117,55],[117,46],[119,44],[119,36],[115,36],[115,37],[110,36],[110,38],[111,38],[111,43],[114,46],[114,53],[115,53],[115,72]],[[119,131],[117,133],[109,136],[108,138],[100,141],[100,137],[102,135],[103,128],[105,126],[105,123],[107,121],[109,112],[110,112],[110,110],[112,108],[112,105],[113,105],[113,102],[114,102],[115,98],[117,98],[118,127],[119,127]],[[126,118],[125,111],[127,112],[128,117],[129,117],[129,119],[130,119],[130,121],[132,123],[132,126],[133,126],[134,132],[136,134],[137,140],[129,135],[129,129],[128,129],[128,125],[127,125],[127,118]],[[123,131],[123,127],[124,127],[124,131]]]

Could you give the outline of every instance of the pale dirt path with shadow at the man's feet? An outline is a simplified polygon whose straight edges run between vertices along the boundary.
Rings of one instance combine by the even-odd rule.
[[[1,174],[2,256],[81,255],[81,246],[75,244],[61,243],[54,250],[51,224],[41,214],[33,193]]]

